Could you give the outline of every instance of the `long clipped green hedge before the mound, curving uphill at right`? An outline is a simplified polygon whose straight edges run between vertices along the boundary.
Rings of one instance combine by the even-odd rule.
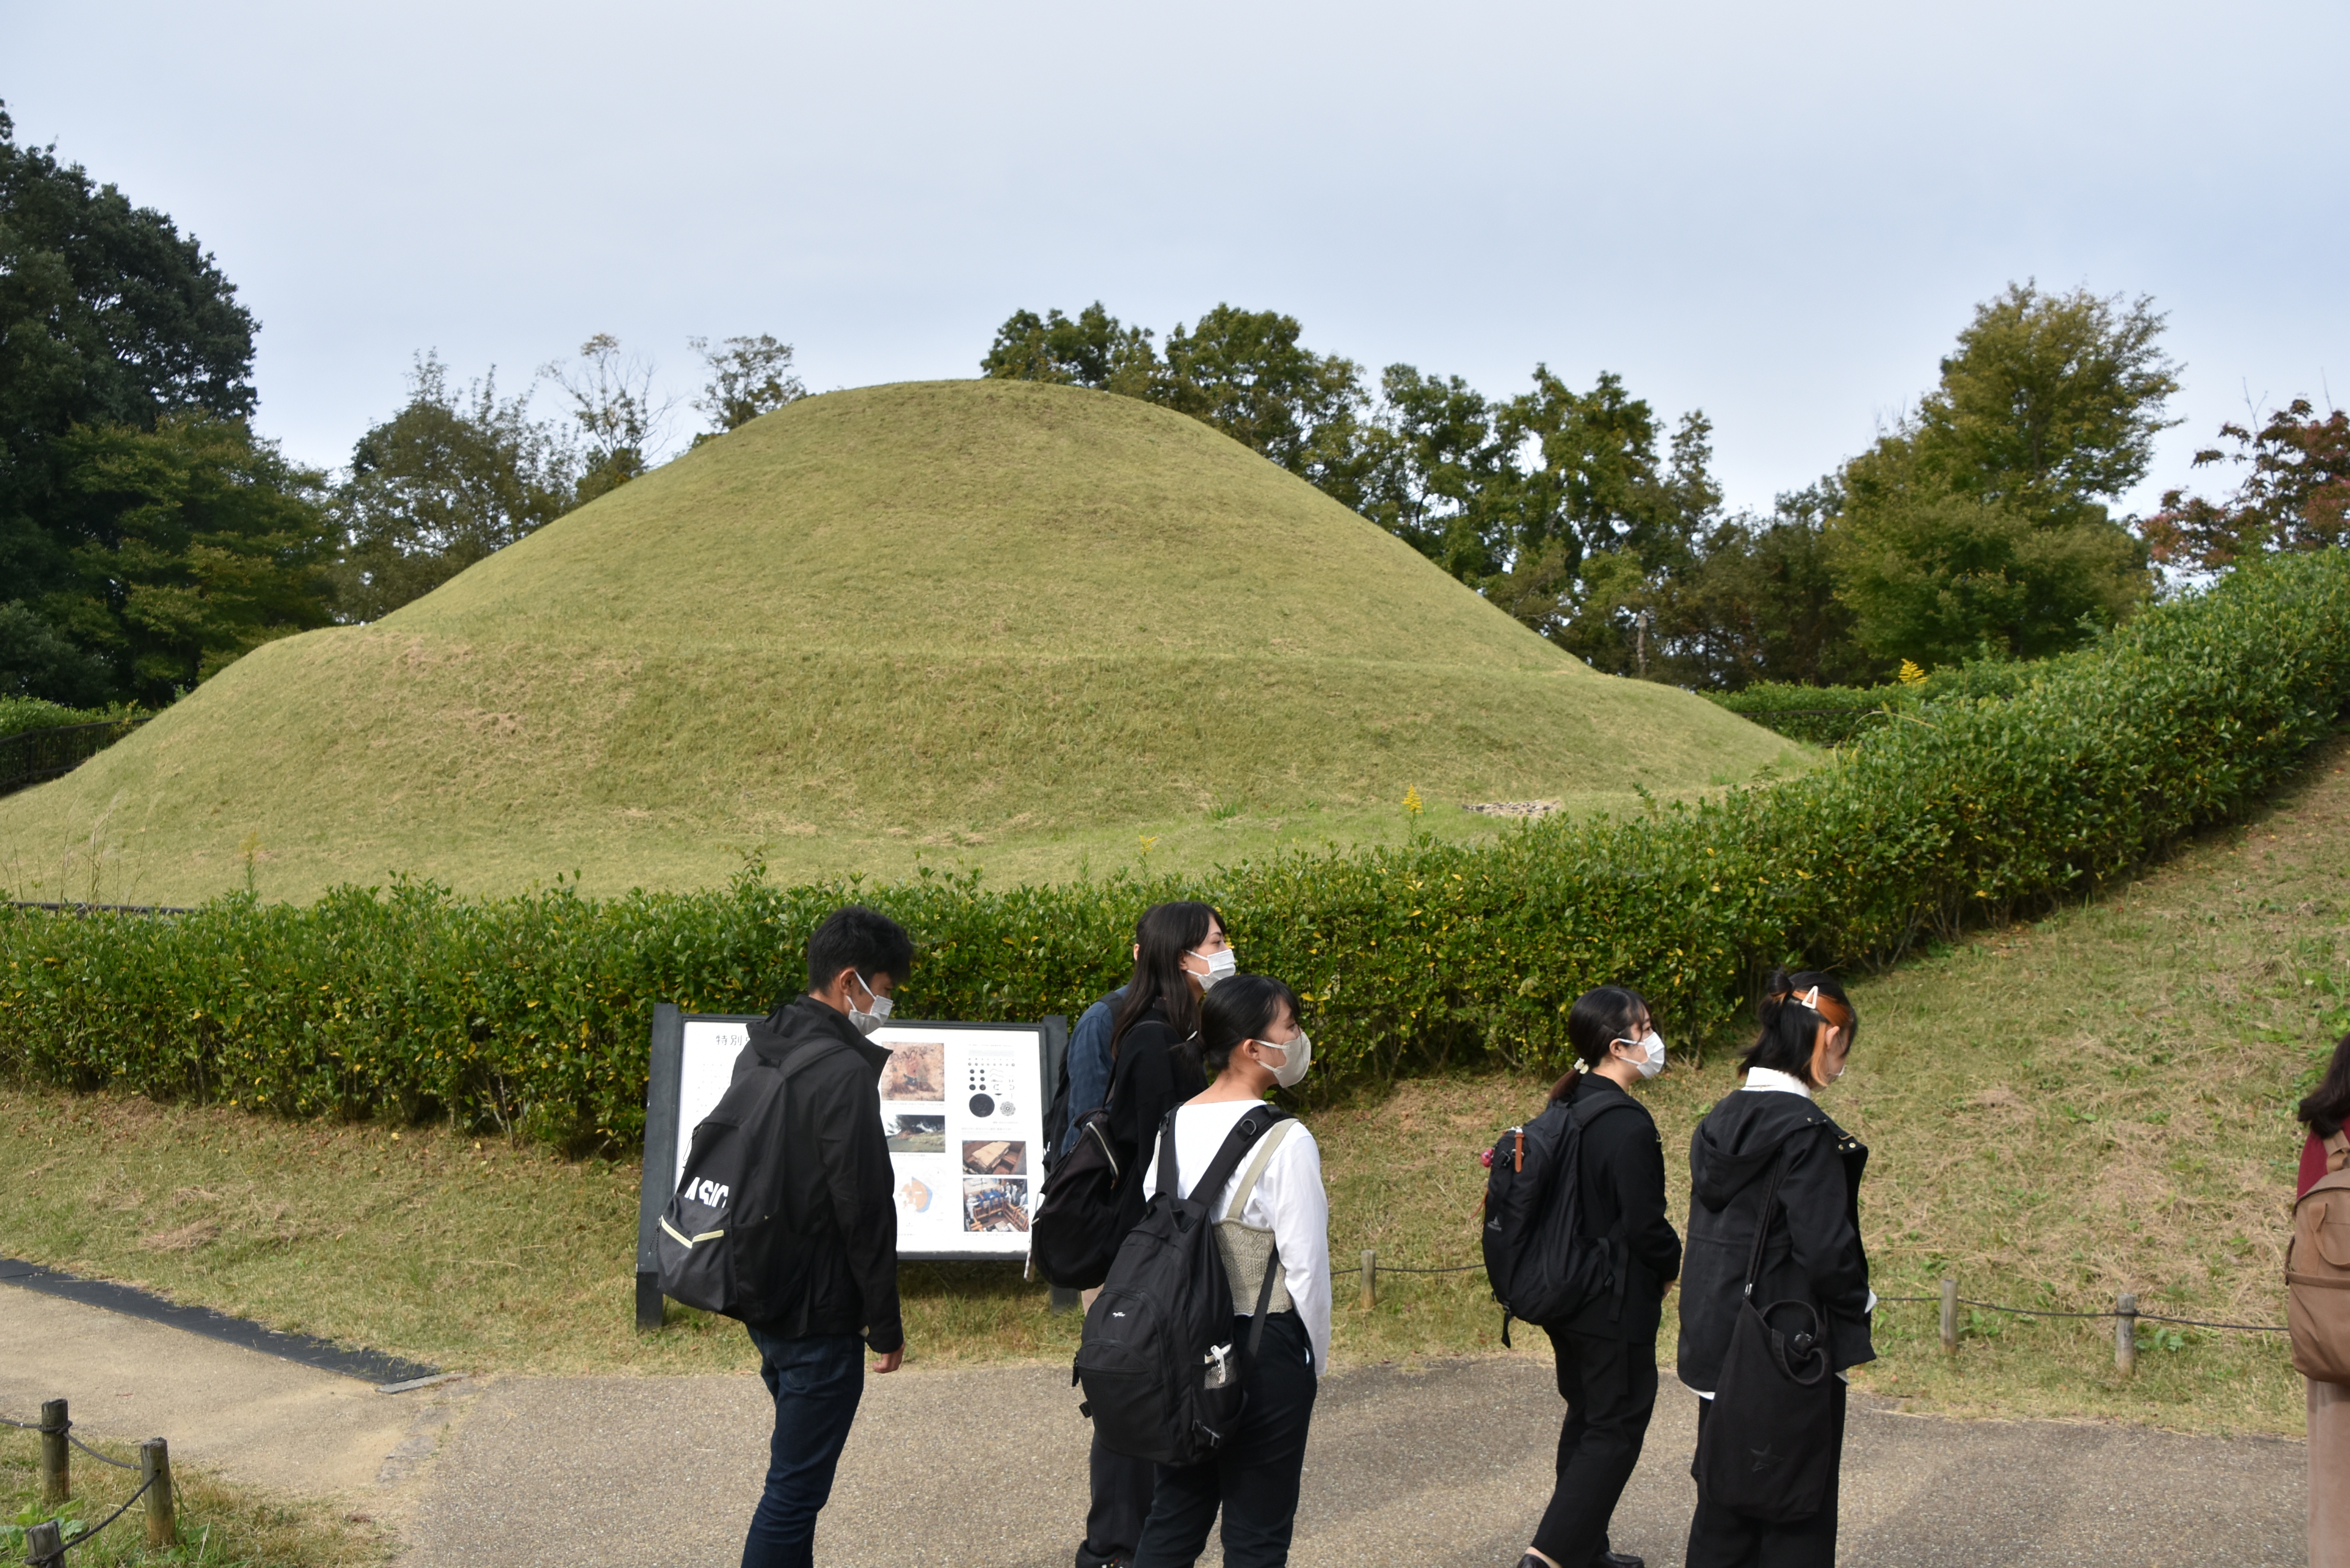
[[[764,1011],[813,922],[860,898],[921,945],[912,1018],[1074,1013],[1135,912],[1206,896],[1243,964],[1309,999],[1316,1074],[1553,1063],[1565,1011],[1629,983],[1723,1037],[1779,959],[1882,961],[2249,809],[2350,698],[2350,557],[2298,557],[2033,665],[2012,698],[1882,724],[1795,780],[1495,846],[1281,856],[1201,877],[978,877],[583,898],[341,889],[176,919],[0,917],[0,1072],[291,1114],[642,1135],[653,1001]]]

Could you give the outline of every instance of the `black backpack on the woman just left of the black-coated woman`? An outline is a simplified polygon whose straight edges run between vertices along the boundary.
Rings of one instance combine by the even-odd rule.
[[[1577,1110],[1553,1100],[1525,1126],[1513,1126],[1485,1154],[1485,1279],[1502,1302],[1502,1345],[1509,1319],[1544,1328],[1565,1324],[1600,1295],[1614,1291],[1624,1307],[1622,1237],[1593,1241],[1584,1234],[1584,1185],[1577,1175],[1584,1126],[1617,1110],[1600,1100]]]

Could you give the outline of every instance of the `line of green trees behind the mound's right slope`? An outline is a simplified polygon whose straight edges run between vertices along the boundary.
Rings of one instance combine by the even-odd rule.
[[[1593,665],[1685,686],[1887,679],[2075,646],[2155,597],[2155,564],[2343,543],[2350,430],[2298,400],[2225,425],[2237,494],[2117,517],[2178,367],[2148,299],[2009,284],[1873,444],[1767,512],[1725,510],[1701,411],[1664,421],[1624,378],[1535,364],[1506,397],[1302,346],[1274,310],[1166,334],[1102,303],[1013,313],[980,369],[1180,409],[1415,545]]]

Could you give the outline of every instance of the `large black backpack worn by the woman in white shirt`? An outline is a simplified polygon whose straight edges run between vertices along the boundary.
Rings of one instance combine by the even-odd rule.
[[[1246,1352],[1231,1342],[1231,1286],[1215,1206],[1248,1150],[1288,1112],[1257,1105],[1224,1135],[1191,1197],[1175,1197],[1175,1112],[1159,1128],[1159,1190],[1086,1312],[1069,1382],[1102,1446],[1159,1465],[1198,1465],[1241,1425],[1246,1368],[1264,1340],[1281,1253],[1264,1260]]]

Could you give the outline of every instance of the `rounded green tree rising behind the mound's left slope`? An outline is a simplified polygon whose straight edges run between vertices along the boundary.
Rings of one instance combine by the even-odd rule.
[[[334,489],[338,616],[378,621],[432,592],[562,517],[576,487],[569,435],[533,421],[526,393],[501,400],[496,371],[451,393],[439,355],[421,355],[409,402],[360,437]]]

